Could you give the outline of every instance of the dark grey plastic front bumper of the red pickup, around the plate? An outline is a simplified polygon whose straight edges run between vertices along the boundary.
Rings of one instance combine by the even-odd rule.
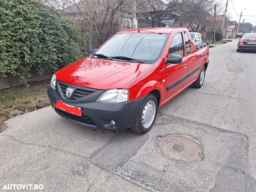
[[[63,100],[51,85],[47,90],[48,97],[51,100],[52,108],[58,115],[76,122],[77,124],[86,125],[98,129],[112,129],[123,131],[129,129],[134,124],[137,111],[144,97],[136,100],[131,100],[124,103],[106,103],[106,102],[87,102],[74,103],[68,100]],[[65,104],[77,106],[83,111],[81,116],[67,113],[61,109],[56,109],[56,100],[63,100]],[[111,123],[111,121],[114,121]]]

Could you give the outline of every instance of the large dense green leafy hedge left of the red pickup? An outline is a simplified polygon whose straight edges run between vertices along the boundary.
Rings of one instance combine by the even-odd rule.
[[[81,31],[53,8],[35,0],[0,1],[0,75],[31,76],[81,58]]]

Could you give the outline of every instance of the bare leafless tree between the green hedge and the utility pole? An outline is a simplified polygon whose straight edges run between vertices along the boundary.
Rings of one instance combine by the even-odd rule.
[[[81,28],[83,31],[83,47],[88,52],[99,47],[109,36],[120,30],[124,18],[118,13],[131,12],[132,0],[41,1],[56,8],[63,8],[69,4],[69,6],[59,11]]]

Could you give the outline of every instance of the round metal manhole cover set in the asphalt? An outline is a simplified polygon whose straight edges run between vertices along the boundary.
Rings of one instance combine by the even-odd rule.
[[[157,137],[157,151],[168,159],[184,162],[201,161],[203,149],[199,142],[190,136],[168,135]]]

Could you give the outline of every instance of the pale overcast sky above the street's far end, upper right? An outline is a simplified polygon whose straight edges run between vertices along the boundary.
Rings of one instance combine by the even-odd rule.
[[[222,1],[223,4],[227,3],[227,0]],[[242,17],[240,22],[243,22],[244,19],[244,22],[250,22],[253,26],[256,26],[255,0],[228,0],[227,15],[230,17],[230,20],[236,20],[238,23],[241,12]]]

